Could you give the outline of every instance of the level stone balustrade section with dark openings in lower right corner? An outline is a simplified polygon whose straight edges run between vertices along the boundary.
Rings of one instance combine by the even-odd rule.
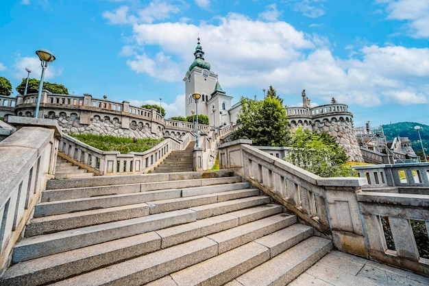
[[[429,276],[429,259],[420,257],[411,223],[419,221],[429,230],[429,195],[364,192],[358,193],[357,199],[369,257]],[[383,226],[390,227],[395,249],[389,249]],[[426,239],[428,243],[427,236]]]

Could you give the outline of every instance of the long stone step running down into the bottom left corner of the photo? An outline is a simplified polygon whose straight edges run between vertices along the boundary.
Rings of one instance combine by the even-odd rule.
[[[8,269],[3,275],[3,279],[5,279],[3,282],[5,285],[42,285],[58,281],[81,272],[132,259],[161,248],[169,248],[281,212],[281,206],[266,204],[143,235],[23,261]]]

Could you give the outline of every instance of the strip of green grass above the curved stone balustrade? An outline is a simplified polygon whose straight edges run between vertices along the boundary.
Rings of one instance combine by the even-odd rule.
[[[151,138],[132,139],[92,134],[69,135],[101,151],[118,151],[121,152],[121,154],[127,154],[129,152],[145,152],[164,140]]]

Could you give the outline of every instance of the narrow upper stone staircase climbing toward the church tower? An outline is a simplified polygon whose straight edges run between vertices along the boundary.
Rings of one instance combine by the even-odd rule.
[[[168,173],[193,171],[193,149],[195,141],[191,141],[185,150],[174,150],[165,160],[151,170],[150,173]]]

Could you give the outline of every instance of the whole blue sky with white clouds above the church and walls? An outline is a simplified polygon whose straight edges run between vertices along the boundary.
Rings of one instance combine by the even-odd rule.
[[[354,126],[429,124],[429,0],[3,0],[0,75],[14,88],[37,49],[69,93],[184,115],[197,37],[223,90],[288,106],[347,104]],[[12,95],[16,95],[16,91]]]

